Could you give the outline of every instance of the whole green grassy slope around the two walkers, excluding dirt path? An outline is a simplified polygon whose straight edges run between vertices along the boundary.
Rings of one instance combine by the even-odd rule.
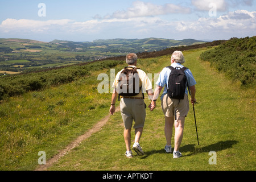
[[[100,131],[48,170],[255,170],[255,90],[239,88],[236,82],[200,61],[199,56],[205,50],[184,51],[184,65],[191,69],[197,81],[196,98],[200,104],[195,110],[200,146],[191,108],[180,147],[183,157],[173,159],[172,154],[166,154],[164,115],[158,100],[154,111],[146,110],[140,142],[144,156],[125,158],[122,117],[115,113]],[[115,74],[124,65],[116,67]],[[167,65],[170,56],[138,61],[138,67],[153,76]],[[97,93],[101,82],[97,81],[97,75],[101,72],[109,75],[110,70],[3,102],[0,169],[33,170],[38,166],[39,151],[45,151],[47,159],[51,158],[108,115],[111,94]],[[150,100],[145,102],[150,104]],[[216,151],[216,165],[208,163],[209,151]]]

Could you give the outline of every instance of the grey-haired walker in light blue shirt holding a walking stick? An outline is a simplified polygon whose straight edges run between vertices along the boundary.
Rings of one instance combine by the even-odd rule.
[[[183,53],[181,51],[175,51],[172,53],[171,56],[171,67],[174,67],[176,69],[181,69],[184,66],[181,65],[185,63],[185,59],[183,56]],[[158,98],[160,92],[162,91],[164,87],[164,91],[161,98],[161,105],[162,110],[165,116],[165,127],[164,127],[164,133],[166,135],[166,146],[164,147],[164,150],[166,150],[167,153],[172,152],[171,147],[171,138],[172,138],[172,127],[175,126],[175,144],[174,144],[174,158],[180,158],[181,152],[179,151],[179,147],[183,138],[183,130],[184,130],[184,122],[185,117],[187,117],[188,111],[189,111],[189,102],[188,102],[188,90],[185,89],[184,99],[179,100],[175,98],[170,98],[167,94],[168,90],[168,81],[169,76],[171,74],[171,69],[164,68],[162,72],[160,72],[158,81],[156,82],[156,89],[154,93],[154,97],[152,98],[151,102],[151,111],[155,109],[156,106],[156,99]],[[189,87],[191,90],[191,103],[192,105],[196,103],[196,81],[193,77],[191,71],[189,69],[186,69],[185,76],[187,77],[187,85],[186,87]],[[175,120],[175,115],[177,116]]]

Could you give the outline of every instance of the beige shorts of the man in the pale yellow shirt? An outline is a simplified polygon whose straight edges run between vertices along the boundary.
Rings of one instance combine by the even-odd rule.
[[[121,115],[125,129],[131,129],[134,120],[134,129],[144,127],[146,118],[145,102],[142,99],[121,98]]]

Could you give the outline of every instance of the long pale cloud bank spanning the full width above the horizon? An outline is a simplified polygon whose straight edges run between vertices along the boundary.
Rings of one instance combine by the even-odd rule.
[[[200,18],[190,21],[163,20],[156,16],[136,18],[93,19],[76,22],[70,19],[30,20],[6,19],[0,24],[0,35],[43,37],[80,40],[107,38],[196,38],[221,39],[225,35],[253,36],[256,30],[256,11],[237,10],[218,18]],[[207,38],[205,35],[208,35]],[[63,38],[60,38],[62,36]],[[210,36],[210,37],[209,37]],[[94,37],[94,38],[93,38]]]

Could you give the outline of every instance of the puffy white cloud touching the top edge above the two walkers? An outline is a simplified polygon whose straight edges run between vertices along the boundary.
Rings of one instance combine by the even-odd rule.
[[[143,16],[156,16],[156,15],[166,15],[174,13],[190,13],[188,7],[182,7],[179,5],[174,5],[167,3],[165,5],[155,5],[150,2],[135,1],[133,2],[133,7],[125,11],[115,11],[112,15],[105,15],[103,19],[109,18],[119,18],[119,19],[129,19]],[[102,19],[100,15],[94,16],[94,18]]]

